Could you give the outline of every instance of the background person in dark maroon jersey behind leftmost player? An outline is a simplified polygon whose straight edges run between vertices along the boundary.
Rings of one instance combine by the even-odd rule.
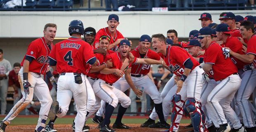
[[[8,75],[8,82],[9,82],[9,87],[13,87],[14,89],[14,94],[13,94],[13,105],[16,104],[19,99],[21,98],[21,86],[19,84],[19,79],[18,79],[18,73],[21,68],[21,65],[19,62],[16,62],[13,64],[13,70],[9,72]]]

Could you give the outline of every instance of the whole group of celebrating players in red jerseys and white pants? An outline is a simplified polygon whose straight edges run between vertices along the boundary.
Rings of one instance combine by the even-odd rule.
[[[99,124],[100,132],[129,129],[122,123],[131,103],[124,94],[129,88],[138,97],[143,90],[154,101],[154,109],[141,127],[178,132],[181,118],[189,116],[192,132],[255,132],[255,103],[248,99],[256,92],[256,20],[253,16],[241,17],[223,12],[220,24],[215,24],[211,14],[203,13],[199,18],[202,28],[191,31],[188,42],[178,42],[178,33],[168,30],[167,37],[142,35],[135,50],[131,50],[133,43],[116,30],[116,14],[110,14],[108,27],[97,33],[92,27],[84,29],[80,20],[71,21],[71,37],[55,45],[52,41],[57,25],[46,24],[44,36],[28,45],[21,61],[18,75],[23,98],[0,121],[0,132],[5,132],[11,120],[26,108],[33,94],[41,103],[35,132],[57,132],[55,120],[66,115],[72,97],[77,109],[74,132],[89,132],[85,122],[96,112],[92,121]],[[149,49],[151,45],[153,50]],[[161,93],[147,75],[152,64],[173,73]],[[58,80],[50,67],[60,74]],[[41,74],[57,86],[57,101],[52,101]],[[111,128],[110,118],[118,103]],[[166,120],[171,110],[169,125]],[[157,117],[159,121],[155,122]],[[47,118],[50,121],[46,125]]]

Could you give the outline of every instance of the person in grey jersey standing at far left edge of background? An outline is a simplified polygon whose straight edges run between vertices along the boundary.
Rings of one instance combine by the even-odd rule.
[[[1,92],[1,115],[4,115],[6,112],[6,97],[8,90],[8,80],[7,76],[12,70],[10,62],[4,59],[4,53],[0,49],[0,92]]]

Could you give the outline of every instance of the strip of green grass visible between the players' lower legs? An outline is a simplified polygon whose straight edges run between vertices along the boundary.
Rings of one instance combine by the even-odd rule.
[[[3,118],[0,118],[0,120],[3,120]],[[12,120],[10,125],[36,125],[38,118],[32,118],[32,117],[16,117],[14,120]],[[73,123],[74,118],[57,118],[55,121],[56,124],[71,124]],[[111,123],[114,123],[115,118],[111,118]],[[122,122],[126,124],[142,124],[146,121],[146,119],[141,118],[123,118]],[[170,123],[170,119],[167,120],[168,123]],[[182,119],[181,123],[190,123],[190,119]],[[88,119],[86,124],[93,124],[91,118]]]

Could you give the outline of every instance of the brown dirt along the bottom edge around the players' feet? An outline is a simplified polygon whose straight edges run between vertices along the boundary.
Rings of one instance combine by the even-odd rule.
[[[149,127],[140,127],[140,124],[126,124],[131,126],[128,130],[116,129],[116,132],[163,132],[165,129],[162,128],[149,128]],[[190,129],[184,129],[185,125],[188,124],[181,124],[179,132],[187,132]],[[89,124],[90,132],[99,132],[97,129],[96,124]],[[111,125],[112,126],[112,125]],[[73,132],[71,125],[54,125],[55,129],[58,132]],[[6,132],[33,132],[35,129],[35,125],[15,125],[15,126],[7,126]]]

